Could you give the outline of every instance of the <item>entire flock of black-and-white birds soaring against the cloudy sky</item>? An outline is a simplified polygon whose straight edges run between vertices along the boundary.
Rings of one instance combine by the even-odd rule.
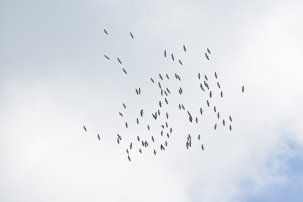
[[[105,29],[104,29],[104,32],[108,35],[108,33],[107,33],[107,31],[105,31]],[[132,33],[130,32],[130,36],[132,37],[132,38],[134,38],[134,36],[132,35]],[[184,49],[184,51],[186,52],[186,48],[185,48],[185,45],[183,45],[183,49]],[[210,50],[207,48],[207,52],[208,52],[208,54],[210,54]],[[166,50],[164,51],[164,56],[166,57]],[[110,60],[106,55],[104,55],[105,56],[105,58],[107,58],[108,60]],[[173,56],[173,54],[171,54],[171,58],[172,58],[172,60],[173,61],[175,61],[175,59],[174,59],[174,56]],[[208,60],[209,60],[209,55],[207,55],[206,53],[205,53],[205,58],[207,58]],[[118,62],[120,63],[120,64],[122,64],[122,62],[121,62],[121,60],[118,58]],[[182,64],[182,62],[179,60],[179,63],[181,64],[181,65],[183,65]],[[122,68],[123,69],[123,72],[125,73],[125,74],[127,74],[126,73],[126,71],[125,71],[125,69],[124,68]],[[163,77],[161,76],[161,74],[159,74],[159,78],[161,79],[161,80],[163,80]],[[215,72],[215,78],[217,79],[217,73]],[[166,74],[166,78],[167,79],[169,79],[169,76]],[[175,74],[175,78],[176,79],[179,79],[180,81],[181,81],[181,77],[179,77],[179,75],[177,75],[177,74]],[[201,76],[200,76],[200,73],[198,73],[198,78],[199,79],[201,79]],[[205,75],[205,80],[206,81],[208,81],[208,77],[206,77],[206,75]],[[151,78],[151,81],[153,82],[153,83],[155,83],[155,81]],[[207,88],[208,90],[209,90],[209,86],[208,86],[208,83],[206,83],[206,81],[204,81],[204,86],[205,86],[205,88]],[[171,92],[168,90],[168,88],[166,88],[166,90],[164,90],[163,91],[163,88],[161,88],[161,84],[160,84],[160,81],[158,82],[158,86],[159,86],[159,88],[161,89],[161,96],[163,96],[163,93],[166,95],[166,96],[168,96],[168,94],[171,94]],[[219,82],[217,82],[217,86],[218,86],[218,88],[221,88],[220,87],[220,84],[219,84]],[[203,85],[202,85],[202,83],[200,84],[200,87],[201,87],[201,90],[203,90],[203,91],[205,91],[205,89],[203,88]],[[242,87],[242,92],[244,92],[244,86]],[[182,88],[180,87],[180,89],[178,89],[178,92],[179,92],[179,94],[182,94],[183,93],[183,90],[182,90]],[[139,94],[141,94],[141,89],[139,88],[139,89],[136,89],[135,90],[135,93],[137,93],[138,95]],[[210,96],[210,98],[211,98],[211,96],[212,96],[213,94],[211,93],[211,91],[210,91],[210,93],[209,93],[209,96]],[[223,98],[223,93],[222,93],[222,91],[221,91],[221,98]],[[165,103],[166,104],[168,104],[168,100],[165,98]],[[123,107],[126,109],[126,105],[124,104],[124,103],[122,103],[123,104]],[[161,103],[161,101],[159,101],[159,107],[161,108],[162,107],[162,104],[163,103]],[[206,101],[206,104],[208,105],[208,107],[210,106],[209,104],[211,104],[208,100]],[[178,106],[178,108],[181,110],[181,108],[183,109],[183,110],[185,110],[185,107],[183,106],[183,104],[179,104],[179,106]],[[216,107],[214,106],[214,111],[215,111],[215,113],[216,113]],[[202,115],[202,108],[200,108],[200,113],[201,113],[201,115]],[[158,115],[157,115],[157,113],[158,113]],[[189,121],[190,122],[192,122],[192,120],[193,120],[193,118],[192,118],[192,116],[191,116],[191,113],[189,112],[189,111],[187,111],[187,113],[188,113],[188,115],[189,115]],[[140,111],[140,115],[141,115],[141,117],[143,117],[143,109]],[[121,113],[121,112],[119,112],[119,115],[120,116],[122,116],[123,117],[123,114]],[[158,112],[156,111],[155,112],[155,114],[152,114],[152,117],[156,120],[157,119],[157,116],[160,116],[160,110],[158,110]],[[166,112],[166,118],[168,119],[168,113]],[[218,119],[219,119],[219,116],[220,116],[220,114],[219,114],[219,112],[218,112],[218,114],[217,114],[217,116],[218,116]],[[232,121],[231,120],[232,118],[231,118],[231,116],[229,116],[229,120],[230,121]],[[196,123],[198,123],[198,117],[196,117],[195,118],[195,121],[196,121]],[[138,118],[137,118],[137,124],[139,124],[139,120],[138,120]],[[225,120],[223,119],[223,122],[222,122],[222,124],[223,124],[223,126],[225,126]],[[127,124],[127,122],[125,122],[125,126],[126,126],[126,128],[128,127],[128,124]],[[83,126],[84,127],[84,130],[85,131],[87,131],[86,130],[86,128],[85,128],[85,126]],[[168,124],[167,124],[167,122],[165,123],[165,125],[161,125],[161,127],[164,129],[165,127],[166,128],[168,128]],[[215,126],[214,126],[214,128],[215,128],[215,130],[216,130],[216,127],[217,127],[217,124],[215,124]],[[229,125],[229,129],[231,130],[231,125]],[[147,125],[147,129],[148,130],[150,130],[150,127],[149,127],[149,125]],[[172,133],[172,127],[170,128],[170,130],[168,130],[168,132],[167,132],[167,134],[166,134],[166,136],[167,136],[167,138],[169,138],[170,137],[170,134]],[[161,131],[161,136],[163,136],[163,130]],[[118,134],[118,137],[117,137],[117,142],[118,142],[118,144],[120,143],[120,141],[122,141],[122,138],[121,138],[122,136],[120,136],[119,134]],[[99,134],[98,134],[98,136],[97,136],[97,138],[100,140],[100,136],[99,136]],[[198,136],[198,140],[200,140],[200,138],[201,138],[201,136],[199,135]],[[139,138],[139,136],[137,136],[137,140],[140,142],[140,138]],[[153,141],[153,142],[155,142],[155,138],[153,137],[153,136],[151,136],[151,140]],[[148,147],[149,145],[148,145],[148,142],[147,142],[147,140],[145,140],[145,141],[143,141],[142,140],[142,143],[140,143],[140,144],[142,144],[142,146],[143,147]],[[160,149],[161,149],[161,151],[163,150],[163,151],[165,151],[165,147],[167,147],[167,145],[168,145],[168,143],[167,143],[167,141],[165,141],[165,147],[163,146],[163,144],[164,143],[162,143],[161,144],[161,146],[159,147]],[[132,146],[133,146],[133,144],[132,143],[130,143],[130,145],[129,145],[129,147],[130,147],[130,150],[132,149]],[[188,137],[187,137],[187,142],[186,142],[186,145],[185,145],[186,147],[187,147],[187,149],[188,149],[188,147],[191,147],[191,136],[190,136],[190,134],[188,134]],[[201,148],[202,148],[202,150],[204,151],[204,146],[203,146],[203,144],[201,145]],[[126,152],[127,152],[127,154],[129,154],[129,152],[130,152],[130,150],[128,150],[128,148],[126,149]],[[142,150],[141,150],[141,148],[139,148],[139,152],[140,153],[142,153]],[[153,152],[155,155],[156,155],[156,153],[157,153],[157,151],[154,149],[154,152]],[[129,161],[131,161],[131,158],[129,157],[129,155],[128,155],[128,160]]]

